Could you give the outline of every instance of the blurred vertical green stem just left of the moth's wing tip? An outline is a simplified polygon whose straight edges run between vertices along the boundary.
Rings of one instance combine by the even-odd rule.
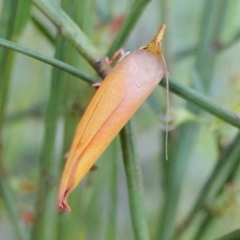
[[[57,40],[56,57],[62,58],[65,54],[63,39]],[[61,107],[63,105],[64,81],[62,72],[53,68],[51,91],[47,106],[43,146],[40,155],[40,177],[38,184],[36,200],[36,220],[32,228],[32,240],[52,240],[57,233],[57,209],[55,207],[54,197],[57,187],[56,162],[56,132]]]

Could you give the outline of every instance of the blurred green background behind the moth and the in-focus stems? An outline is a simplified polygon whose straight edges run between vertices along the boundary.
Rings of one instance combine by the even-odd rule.
[[[102,56],[119,47],[138,49],[165,23],[170,78],[239,114],[238,0],[52,2]],[[37,5],[0,0],[0,37],[96,76]],[[116,39],[120,46],[113,45]],[[132,227],[119,138],[70,196],[72,212],[57,212],[64,156],[94,91],[63,70],[0,47],[1,239],[147,239]],[[166,161],[165,99],[158,87],[132,120],[148,239],[218,239],[240,228],[239,131],[170,94]]]

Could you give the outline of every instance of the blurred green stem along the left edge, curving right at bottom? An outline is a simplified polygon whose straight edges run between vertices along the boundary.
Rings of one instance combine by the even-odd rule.
[[[0,37],[13,39],[14,28],[16,26],[16,13],[18,9],[18,1],[3,1],[1,19],[0,19]],[[20,218],[19,209],[15,202],[16,196],[9,184],[8,175],[5,171],[3,161],[3,124],[5,119],[5,111],[7,106],[8,89],[10,85],[10,74],[13,63],[13,54],[8,49],[0,49],[0,195],[3,199],[5,210],[12,224],[13,232],[17,239],[26,240],[27,231],[24,228],[23,221]]]

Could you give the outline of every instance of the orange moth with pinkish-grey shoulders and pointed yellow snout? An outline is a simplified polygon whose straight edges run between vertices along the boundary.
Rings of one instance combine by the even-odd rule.
[[[101,83],[80,123],[65,164],[58,209],[166,73],[161,40],[166,26],[140,49],[121,58]]]

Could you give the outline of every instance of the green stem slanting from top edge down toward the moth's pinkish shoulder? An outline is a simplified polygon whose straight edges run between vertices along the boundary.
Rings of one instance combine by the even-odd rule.
[[[114,39],[112,46],[108,50],[107,56],[113,56],[116,50],[123,46],[149,2],[148,0],[138,0],[134,1],[133,5],[129,7],[131,11],[119,30],[117,37]]]

